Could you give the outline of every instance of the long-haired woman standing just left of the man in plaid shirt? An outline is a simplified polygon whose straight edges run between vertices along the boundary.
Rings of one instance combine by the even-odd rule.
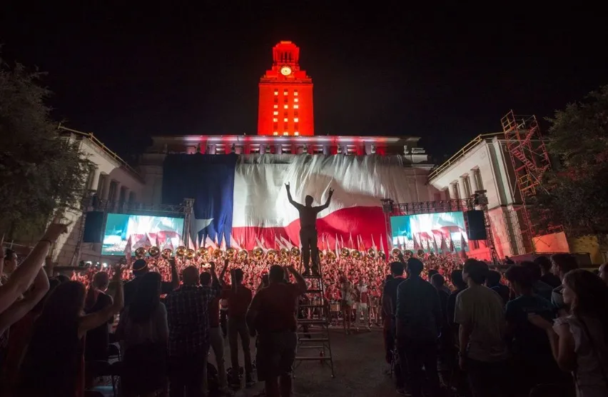
[[[161,275],[146,273],[116,328],[116,338],[124,351],[125,396],[153,396],[165,388],[168,334],[167,310],[161,303]]]

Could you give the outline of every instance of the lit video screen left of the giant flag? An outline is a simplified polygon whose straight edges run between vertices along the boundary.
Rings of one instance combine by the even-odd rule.
[[[159,248],[163,248],[171,241],[173,247],[177,247],[183,233],[183,218],[108,213],[101,255],[124,255],[129,236],[135,246],[138,241],[145,241],[146,233],[150,241],[148,246],[156,246],[158,241]]]

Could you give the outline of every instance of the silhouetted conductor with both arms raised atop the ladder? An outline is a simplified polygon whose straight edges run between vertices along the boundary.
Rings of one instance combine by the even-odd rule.
[[[305,205],[296,203],[291,197],[289,190],[289,184],[285,184],[287,189],[287,198],[292,206],[294,206],[298,213],[300,213],[300,243],[302,244],[302,257],[304,260],[304,275],[310,276],[310,256],[313,257],[313,274],[319,275],[319,250],[317,248],[317,214],[328,208],[331,202],[331,196],[333,196],[333,189],[330,189],[328,200],[325,201],[323,206],[313,207],[313,196],[306,196],[304,198]]]

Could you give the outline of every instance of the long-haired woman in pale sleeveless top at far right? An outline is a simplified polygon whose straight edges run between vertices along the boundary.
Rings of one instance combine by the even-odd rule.
[[[577,396],[608,396],[608,286],[582,269],[566,273],[562,284],[569,315],[554,324],[537,314],[530,321],[547,331],[559,368],[572,371]]]

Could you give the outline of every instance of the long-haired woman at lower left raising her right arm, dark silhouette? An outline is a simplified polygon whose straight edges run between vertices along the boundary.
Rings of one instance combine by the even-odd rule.
[[[86,290],[78,281],[61,283],[49,295],[21,367],[19,396],[83,396],[84,336],[123,307],[120,276],[116,268],[112,305],[95,313],[83,313]]]

